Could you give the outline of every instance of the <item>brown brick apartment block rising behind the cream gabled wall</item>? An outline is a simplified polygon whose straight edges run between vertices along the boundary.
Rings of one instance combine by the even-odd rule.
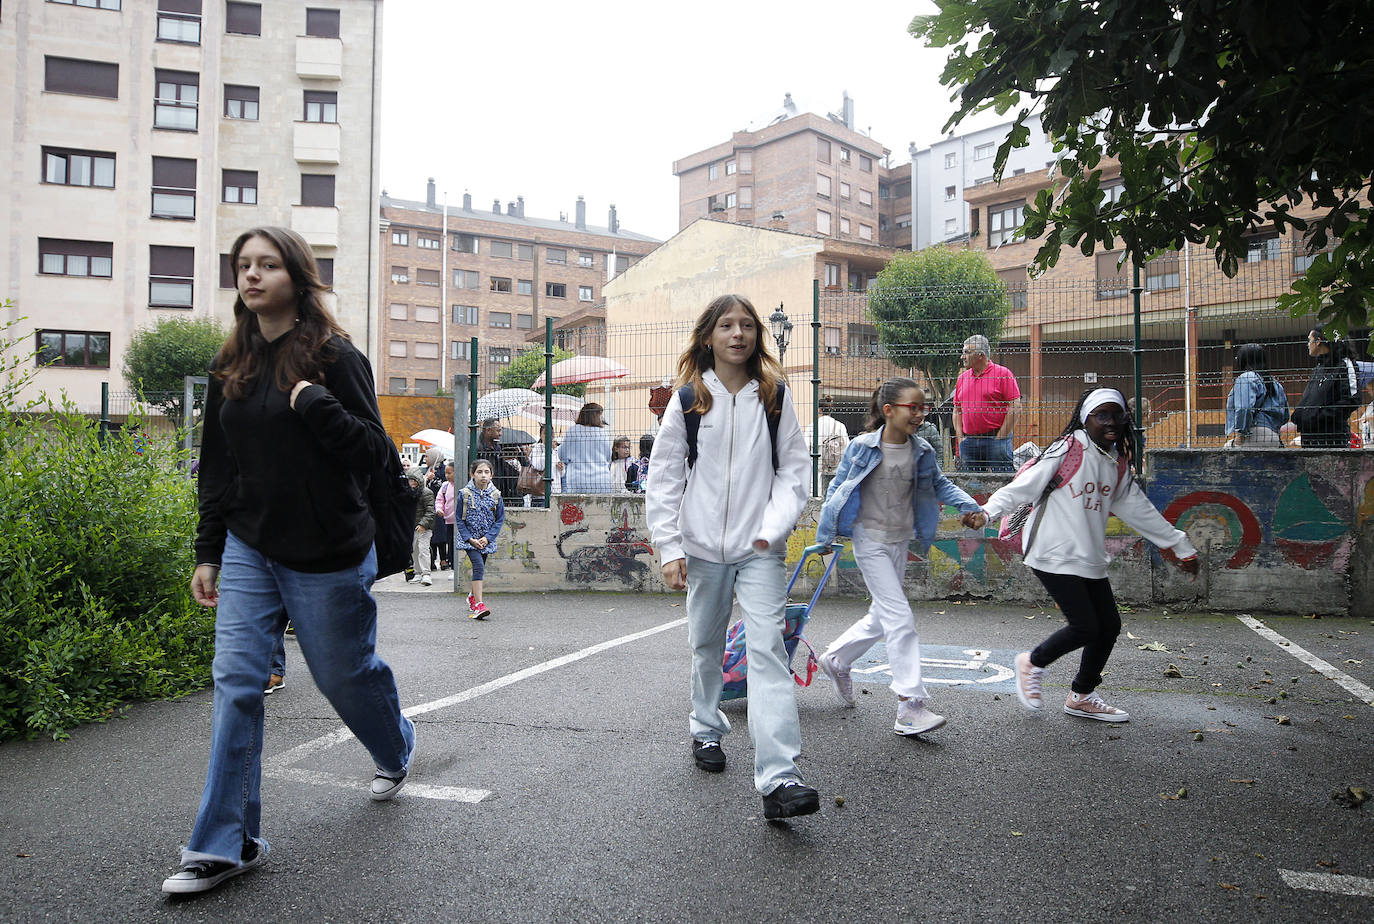
[[[889,150],[840,114],[783,109],[757,131],[673,162],[679,227],[719,219],[879,246],[911,245],[911,170],[888,166]],[[905,243],[901,243],[901,242]]]

